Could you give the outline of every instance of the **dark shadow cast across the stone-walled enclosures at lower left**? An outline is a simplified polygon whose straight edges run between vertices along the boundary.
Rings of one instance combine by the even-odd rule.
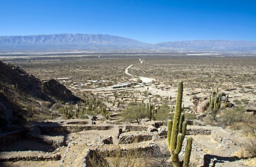
[[[58,148],[58,146],[54,144],[49,144],[49,142],[47,143],[45,142],[45,140],[40,140],[38,138],[28,138],[27,134],[32,133],[35,136],[56,136],[57,138],[59,138],[59,136],[63,136],[62,145],[67,146],[67,138],[70,132],[67,129],[63,128],[63,126],[61,126],[61,124],[59,124],[58,122],[37,122],[36,125],[32,122],[30,123],[30,125],[20,127],[21,133],[19,134],[19,137],[13,137],[17,135],[12,135],[12,131],[8,133],[0,133],[0,167],[19,167],[19,163],[15,164],[15,161],[4,160],[4,157],[9,158],[10,156],[12,156],[12,154],[6,155],[6,152],[15,151],[15,156],[19,156],[19,152],[22,153],[23,151],[53,152]],[[40,130],[41,133],[38,130]],[[5,135],[7,137],[4,137]],[[33,163],[33,161],[34,160],[28,162]]]

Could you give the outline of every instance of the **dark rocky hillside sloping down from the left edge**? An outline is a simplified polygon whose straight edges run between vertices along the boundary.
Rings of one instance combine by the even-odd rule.
[[[78,97],[58,81],[40,81],[19,67],[0,62],[0,124],[22,124],[50,116],[52,105],[76,102]]]

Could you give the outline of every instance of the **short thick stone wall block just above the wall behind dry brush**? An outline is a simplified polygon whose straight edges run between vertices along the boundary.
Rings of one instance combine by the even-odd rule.
[[[153,133],[122,133],[119,136],[119,144],[131,144],[151,140]]]

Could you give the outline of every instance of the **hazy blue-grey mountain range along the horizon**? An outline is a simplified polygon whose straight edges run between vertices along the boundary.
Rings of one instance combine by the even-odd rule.
[[[102,34],[53,34],[0,36],[1,51],[42,50],[191,50],[256,51],[256,42],[233,40],[192,40],[149,44],[125,37]]]

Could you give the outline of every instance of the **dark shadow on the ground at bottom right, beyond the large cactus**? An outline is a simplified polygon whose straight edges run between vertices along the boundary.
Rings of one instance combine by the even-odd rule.
[[[238,161],[243,158],[239,158],[237,156],[232,156],[232,157],[226,157],[226,156],[216,156],[216,155],[210,155],[206,154],[204,155],[204,165],[201,167],[209,167],[209,164],[211,163],[211,160],[213,160],[212,167],[215,167],[216,163],[224,163],[224,161]]]

